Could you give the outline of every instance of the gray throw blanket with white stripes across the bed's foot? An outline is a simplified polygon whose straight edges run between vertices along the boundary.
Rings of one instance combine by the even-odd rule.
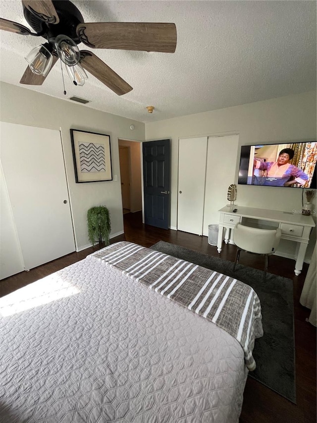
[[[262,315],[249,285],[131,242],[117,242],[91,256],[226,330],[241,344],[248,369],[256,368],[252,351],[255,339],[263,336]]]

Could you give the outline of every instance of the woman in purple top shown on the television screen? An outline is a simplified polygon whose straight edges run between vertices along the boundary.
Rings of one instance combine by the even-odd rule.
[[[305,185],[308,181],[308,175],[297,166],[291,165],[290,160],[294,157],[292,148],[284,148],[278,154],[277,162],[264,162],[254,159],[254,168],[266,171],[265,177],[260,177],[261,185],[270,186],[291,186],[294,183]],[[256,181],[259,177],[256,177]],[[255,182],[255,184],[258,184]]]

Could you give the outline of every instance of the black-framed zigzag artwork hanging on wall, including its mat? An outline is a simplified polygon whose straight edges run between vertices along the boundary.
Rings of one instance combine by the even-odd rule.
[[[76,183],[112,181],[110,135],[70,129]]]

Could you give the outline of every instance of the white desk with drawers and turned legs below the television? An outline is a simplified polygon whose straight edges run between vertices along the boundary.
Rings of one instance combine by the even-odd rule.
[[[235,208],[237,208],[237,212],[233,213],[232,210]],[[229,229],[233,229],[238,222],[246,226],[257,226],[259,228],[268,228],[268,226],[270,229],[280,228],[282,231],[281,239],[298,242],[294,272],[297,276],[301,273],[309,236],[312,228],[315,226],[312,216],[241,206],[225,206],[219,210],[219,213],[219,233],[217,242],[217,250],[219,253],[222,248],[223,228],[227,229],[225,243],[229,242]]]

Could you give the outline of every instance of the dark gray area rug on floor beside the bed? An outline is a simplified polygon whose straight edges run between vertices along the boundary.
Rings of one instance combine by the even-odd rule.
[[[169,242],[159,241],[154,250],[198,264],[231,276],[250,285],[261,302],[264,336],[256,339],[253,356],[257,363],[249,376],[296,404],[295,347],[293,316],[293,282],[290,279],[266,274]]]

